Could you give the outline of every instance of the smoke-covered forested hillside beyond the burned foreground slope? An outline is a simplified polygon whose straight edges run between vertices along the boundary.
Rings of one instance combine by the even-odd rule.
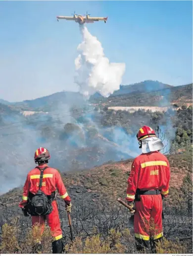
[[[168,87],[166,89],[170,90]],[[179,88],[175,90],[179,102],[182,93],[183,97],[189,95],[189,98],[192,93],[189,85],[182,86],[181,92]],[[162,89],[158,92],[164,94]],[[148,92],[136,94],[138,100],[133,96],[124,97],[127,102],[133,101],[135,105],[140,105],[143,97],[148,95]],[[190,147],[193,132],[191,105],[187,107],[186,104],[180,106],[172,103],[167,111],[152,112],[139,107],[141,109],[128,112],[108,109],[108,105],[116,103],[116,100],[117,104],[122,102],[122,96],[108,100],[107,105],[99,101],[96,105],[83,99],[78,93],[62,92],[27,101],[26,107],[25,104],[1,104],[1,153],[6,157],[0,162],[0,193],[23,183],[26,169],[33,168],[34,150],[40,145],[51,151],[50,164],[63,171],[88,169],[108,161],[136,157],[140,154],[136,133],[145,124],[154,129],[160,127],[165,136],[167,152],[170,148],[177,152]],[[160,104],[160,101],[155,102]],[[32,107],[36,103],[37,108]],[[23,111],[26,108],[31,109],[31,112]],[[7,185],[7,173],[15,170],[18,172],[17,178],[10,175]]]

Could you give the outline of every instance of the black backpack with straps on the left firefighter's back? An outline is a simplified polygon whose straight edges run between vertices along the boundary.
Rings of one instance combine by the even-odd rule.
[[[43,169],[36,167],[41,171],[40,174],[40,183],[39,183],[39,190],[38,192],[29,198],[28,203],[28,211],[32,216],[39,216],[39,215],[48,215],[52,212],[52,196],[47,196],[42,190],[42,179],[44,175],[44,170],[48,168],[45,167]]]

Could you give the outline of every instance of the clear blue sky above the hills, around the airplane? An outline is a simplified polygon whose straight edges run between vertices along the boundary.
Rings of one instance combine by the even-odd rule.
[[[192,1],[0,1],[0,98],[20,101],[74,84],[79,25],[57,15],[108,16],[87,27],[110,62],[124,62],[122,84],[193,79]]]

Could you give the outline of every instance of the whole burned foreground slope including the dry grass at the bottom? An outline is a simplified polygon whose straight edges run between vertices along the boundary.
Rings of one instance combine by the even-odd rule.
[[[190,155],[170,156],[170,196],[163,201],[165,240],[157,245],[157,253],[192,253],[192,163]],[[109,163],[86,171],[61,173],[72,198],[74,243],[65,211],[65,203],[57,196],[65,252],[71,254],[136,253],[131,214],[117,197],[125,197],[131,161]],[[183,171],[182,171],[183,170]],[[182,178],[183,173],[183,178]],[[176,178],[176,179],[175,179]],[[175,180],[182,180],[176,184]],[[0,196],[0,253],[51,253],[49,228],[41,245],[37,226],[32,233],[31,217],[18,208],[21,189]],[[26,246],[27,245],[27,246]]]

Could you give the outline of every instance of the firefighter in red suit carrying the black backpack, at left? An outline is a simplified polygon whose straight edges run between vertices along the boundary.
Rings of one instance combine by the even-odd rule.
[[[34,160],[38,164],[39,168],[48,167],[48,160],[50,159],[50,154],[47,149],[39,148],[35,152]],[[23,197],[22,201],[19,203],[19,206],[24,209],[28,204],[28,198],[32,197],[39,190],[39,181],[40,181],[40,170],[38,168],[33,169],[27,175],[23,187]],[[32,216],[32,225],[39,223],[42,225],[42,232],[44,231],[45,220],[47,220],[48,226],[50,227],[51,234],[53,237],[52,242],[52,253],[61,254],[63,251],[62,243],[62,230],[60,227],[60,220],[58,215],[57,202],[55,200],[55,190],[57,191],[61,198],[65,201],[66,211],[71,211],[71,198],[69,197],[66,188],[63,184],[59,172],[51,167],[48,167],[44,171],[44,176],[42,180],[41,190],[47,195],[53,195],[52,201],[52,211],[50,214],[45,216]]]

